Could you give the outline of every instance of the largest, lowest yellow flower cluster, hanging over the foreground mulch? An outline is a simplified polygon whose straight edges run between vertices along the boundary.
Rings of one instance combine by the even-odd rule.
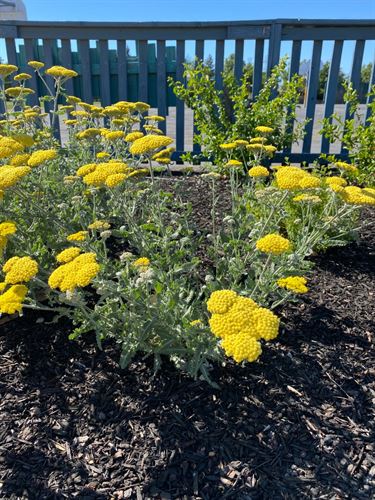
[[[262,352],[259,339],[272,340],[278,335],[279,318],[233,290],[213,292],[207,309],[212,314],[212,333],[221,338],[226,355],[237,363],[257,360]]]

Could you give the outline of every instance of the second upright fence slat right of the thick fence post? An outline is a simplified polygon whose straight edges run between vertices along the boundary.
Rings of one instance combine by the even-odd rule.
[[[312,142],[312,131],[314,125],[315,105],[319,87],[320,60],[322,55],[322,42],[315,41],[311,58],[311,68],[309,76],[309,87],[307,91],[306,118],[310,121],[305,127],[306,135],[303,140],[302,152],[310,153]]]

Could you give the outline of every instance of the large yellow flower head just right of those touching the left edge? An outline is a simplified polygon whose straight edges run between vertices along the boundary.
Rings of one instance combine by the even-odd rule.
[[[99,271],[96,254],[83,253],[55,269],[48,279],[48,284],[62,292],[73,291],[77,287],[89,285]]]

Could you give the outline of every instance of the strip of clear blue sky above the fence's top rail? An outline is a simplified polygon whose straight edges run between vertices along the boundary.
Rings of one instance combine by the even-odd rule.
[[[218,21],[375,18],[375,0],[24,0],[30,20]]]

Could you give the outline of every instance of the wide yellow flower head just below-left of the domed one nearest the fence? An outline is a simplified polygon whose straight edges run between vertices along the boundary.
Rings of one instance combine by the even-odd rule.
[[[107,185],[114,187],[127,179],[131,169],[126,163],[109,161],[103,163],[88,163],[77,170],[77,175],[89,186],[101,187]],[[121,174],[119,178],[119,174]]]

